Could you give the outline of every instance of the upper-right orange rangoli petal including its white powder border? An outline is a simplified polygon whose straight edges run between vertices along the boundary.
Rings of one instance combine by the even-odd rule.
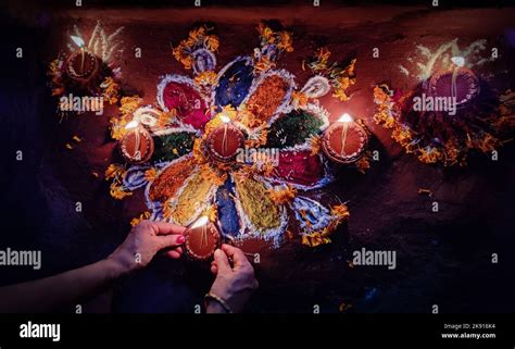
[[[254,80],[244,103],[256,119],[271,124],[286,110],[294,88],[293,75],[268,71]]]

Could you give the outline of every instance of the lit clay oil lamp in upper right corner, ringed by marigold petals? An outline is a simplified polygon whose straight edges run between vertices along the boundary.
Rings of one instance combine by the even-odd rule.
[[[456,108],[462,108],[479,95],[479,80],[473,71],[465,67],[463,57],[451,58],[451,68],[438,72],[429,79],[429,91],[434,97],[452,98]]]

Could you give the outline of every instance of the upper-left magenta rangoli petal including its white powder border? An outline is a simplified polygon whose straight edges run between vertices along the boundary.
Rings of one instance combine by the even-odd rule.
[[[202,129],[211,119],[208,102],[186,76],[164,76],[158,85],[158,102],[164,111],[175,109],[178,121],[196,129]]]

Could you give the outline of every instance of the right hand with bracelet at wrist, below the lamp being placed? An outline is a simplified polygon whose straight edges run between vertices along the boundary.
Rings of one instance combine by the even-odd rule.
[[[242,311],[250,296],[259,286],[254,277],[254,269],[243,251],[230,245],[222,245],[222,249],[215,251],[214,258],[211,263],[211,272],[216,275],[216,278],[211,286],[210,294],[222,298],[233,312]],[[206,312],[226,311],[215,300],[208,299]]]

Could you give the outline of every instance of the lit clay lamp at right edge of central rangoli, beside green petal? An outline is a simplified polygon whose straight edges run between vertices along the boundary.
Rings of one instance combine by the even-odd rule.
[[[322,149],[325,154],[338,163],[353,163],[365,152],[368,136],[365,129],[344,113],[338,122],[324,133]]]

